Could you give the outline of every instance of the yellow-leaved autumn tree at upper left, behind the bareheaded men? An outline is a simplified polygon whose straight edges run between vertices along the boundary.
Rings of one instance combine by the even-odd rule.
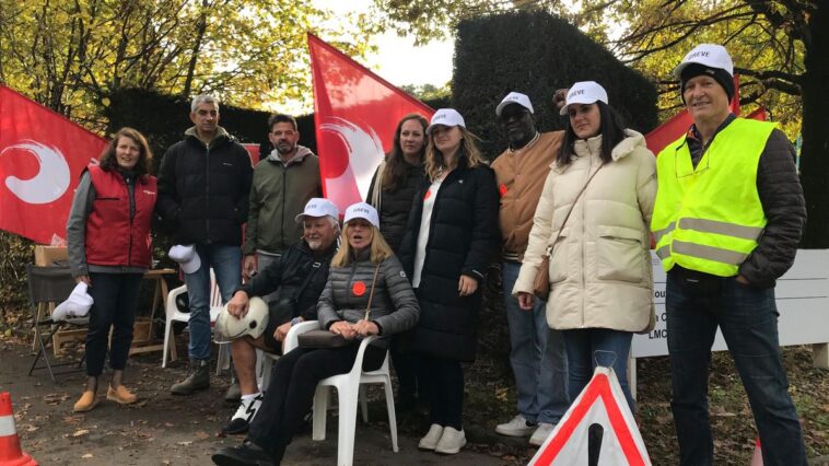
[[[261,107],[306,96],[306,31],[367,49],[371,19],[315,26],[329,15],[310,0],[0,0],[0,82],[94,128],[124,88]]]

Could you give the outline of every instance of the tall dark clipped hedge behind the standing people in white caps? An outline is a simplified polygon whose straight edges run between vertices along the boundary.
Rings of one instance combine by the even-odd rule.
[[[658,124],[656,88],[567,21],[542,11],[460,22],[455,43],[452,104],[494,158],[506,148],[495,106],[511,91],[527,94],[542,131],[564,128],[552,107],[557,89],[596,81],[632,129]]]

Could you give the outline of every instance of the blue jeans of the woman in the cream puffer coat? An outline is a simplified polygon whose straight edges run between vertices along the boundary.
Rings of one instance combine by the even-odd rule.
[[[633,334],[609,328],[580,328],[563,330],[570,369],[570,393],[575,399],[593,378],[596,365],[610,366],[619,380],[631,412],[635,401],[628,386],[628,353]]]

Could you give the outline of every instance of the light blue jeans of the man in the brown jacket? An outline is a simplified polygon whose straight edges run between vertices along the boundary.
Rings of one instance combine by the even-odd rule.
[[[536,300],[533,311],[518,307],[512,289],[519,270],[518,263],[504,261],[501,268],[518,412],[529,422],[556,424],[570,406],[564,340],[547,325],[546,302]]]

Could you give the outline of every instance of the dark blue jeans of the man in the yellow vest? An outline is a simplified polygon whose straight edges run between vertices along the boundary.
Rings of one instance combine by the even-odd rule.
[[[774,289],[713,278],[703,288],[677,272],[666,286],[674,412],[682,465],[713,464],[708,412],[711,345],[719,326],[757,423],[766,465],[806,465],[797,412],[789,396],[778,341]]]

